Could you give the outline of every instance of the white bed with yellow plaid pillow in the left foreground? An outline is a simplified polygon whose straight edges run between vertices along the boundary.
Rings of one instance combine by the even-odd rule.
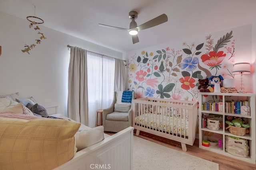
[[[6,95],[5,95],[6,96]],[[8,95],[7,95],[8,96]],[[54,170],[89,170],[89,169],[112,169],[112,170],[131,170],[132,169],[132,158],[133,158],[133,127],[128,127],[112,136],[110,135],[106,135],[104,134],[103,131],[103,127],[98,126],[95,128],[90,128],[87,127],[85,125],[82,125],[80,123],[77,123],[71,119],[69,119],[68,117],[65,117],[62,114],[58,114],[58,106],[46,106],[44,107],[45,111],[49,114],[49,117],[38,117],[38,116],[33,116],[33,115],[29,115],[27,112],[24,113],[24,110],[20,109],[20,106],[22,106],[23,104],[19,103],[16,105],[12,105],[10,108],[9,107],[8,111],[4,110],[3,111],[3,107],[1,107],[1,98],[3,98],[3,95],[0,96],[0,169],[54,169]],[[8,98],[9,99],[9,98]],[[16,100],[16,98],[12,96],[11,98],[12,100]],[[31,98],[28,98],[31,99]],[[14,102],[12,102],[14,103]],[[19,111],[18,108],[20,109]],[[23,106],[24,108],[24,106]],[[2,110],[1,110],[2,109]],[[11,111],[10,111],[11,109]],[[20,111],[22,111],[20,113]],[[22,118],[17,118],[18,117],[22,117]],[[8,116],[8,117],[6,117]],[[12,118],[10,118],[12,117]],[[25,117],[25,118],[24,118]],[[54,117],[54,118],[53,118]],[[63,119],[68,119],[68,120],[63,120]],[[14,123],[13,123],[14,122]],[[18,122],[18,123],[17,123]],[[42,126],[47,127],[49,131],[49,133],[47,134],[56,134],[54,133],[55,131],[53,131],[52,129],[56,128],[57,125],[55,125],[54,123],[58,123],[61,122],[63,125],[61,126],[61,128],[59,129],[57,134],[63,133],[64,135],[66,135],[66,133],[68,133],[68,144],[66,145],[65,142],[67,141],[67,139],[64,139],[65,141],[56,141],[56,143],[58,143],[58,145],[56,144],[56,152],[53,152],[52,149],[49,150],[45,145],[46,142],[44,142],[44,144],[42,144],[42,141],[46,141],[46,139],[44,138],[44,140],[37,140],[36,138],[38,137],[31,137],[31,135],[29,137],[24,137],[24,135],[22,136],[22,140],[24,140],[24,138],[28,138],[28,141],[26,141],[26,143],[23,142],[16,142],[16,143],[12,143],[12,141],[8,141],[5,140],[6,136],[7,138],[10,137],[10,134],[6,135],[6,129],[10,128],[9,131],[18,131],[18,129],[26,129],[26,131],[28,131],[28,125],[27,123],[30,123],[29,126],[34,126],[32,129],[32,131],[36,131],[34,129],[36,129],[35,127],[40,126],[42,122],[47,122],[48,124],[51,125],[45,125],[43,124]],[[38,123],[40,122],[40,123]],[[65,123],[63,123],[65,122]],[[26,125],[24,125],[24,123]],[[24,127],[22,128],[16,128],[14,126],[16,126],[16,124],[21,125]],[[8,128],[7,128],[8,127]],[[52,128],[54,127],[54,128]],[[63,127],[65,128],[63,130]],[[66,127],[68,127],[68,130],[66,129]],[[2,129],[2,131],[1,131]],[[4,129],[4,130],[3,130]],[[38,128],[40,129],[40,128]],[[101,140],[100,141],[96,141],[96,143],[92,144],[89,143],[88,141],[86,141],[86,146],[85,148],[81,148],[81,146],[78,146],[77,141],[80,140],[77,138],[77,134],[79,133],[84,133],[86,132],[86,134],[92,134],[89,132],[93,132],[95,133],[95,131],[101,131],[101,133],[99,134],[103,134],[103,136],[101,136]],[[4,131],[4,132],[3,132]],[[31,133],[34,133],[32,132]],[[67,132],[68,131],[68,132]],[[70,131],[70,133],[69,133]],[[43,131],[41,129],[41,131],[37,131],[36,134],[40,135],[40,133],[44,133],[45,131]],[[5,134],[4,134],[5,133]],[[21,133],[21,130],[19,131],[19,134]],[[46,134],[46,133],[45,133]],[[92,139],[95,138],[96,135],[93,136],[86,136],[84,138],[86,139],[90,139],[89,141],[92,141]],[[98,135],[100,136],[100,135]],[[18,135],[15,136],[15,140],[18,140],[19,137]],[[33,144],[33,140],[34,139],[36,141],[35,144]],[[59,139],[58,139],[59,140]],[[4,143],[7,142],[7,143]],[[28,144],[29,143],[29,144]],[[32,144],[34,146],[34,148],[36,148],[36,151],[31,151],[29,150],[29,152],[23,152],[22,148],[24,145],[26,146],[25,149],[29,149],[29,148],[33,148]],[[31,145],[30,145],[31,144]],[[65,144],[65,145],[64,145]],[[4,145],[11,145],[12,147],[4,147]],[[15,148],[14,145],[19,145],[18,147],[20,147],[19,151],[21,154],[19,156],[17,156],[17,154],[13,154],[12,150],[8,150],[8,148]],[[61,148],[60,146],[64,145],[64,149]],[[81,144],[84,146],[84,143]],[[16,146],[17,147],[17,146]],[[79,148],[80,147],[80,148]],[[44,156],[45,159],[43,160],[33,160],[36,159],[36,152],[41,149],[44,148],[44,152],[41,152],[42,156]],[[69,149],[67,149],[69,148]],[[71,148],[71,149],[70,149]],[[18,148],[19,149],[19,148]],[[67,150],[67,151],[66,151]],[[71,150],[71,151],[70,151]],[[79,150],[79,151],[77,151]],[[67,153],[68,152],[68,153]],[[33,155],[34,156],[31,156]],[[43,155],[45,154],[45,155]],[[59,155],[61,155],[62,157],[66,157],[64,158],[64,160],[62,160],[62,162],[60,162],[60,158],[58,157]],[[45,166],[45,164],[51,164],[52,160],[49,160],[48,157],[52,156],[52,159],[55,159],[55,157],[58,157],[56,159],[57,163],[54,162],[54,166]],[[16,156],[16,157],[15,157]],[[18,159],[23,159],[22,162],[15,162],[16,158]],[[32,161],[31,161],[32,159]],[[10,163],[10,160],[14,161],[15,163]],[[6,163],[6,162],[8,163]],[[27,161],[27,162],[26,162]],[[30,161],[30,162],[28,162]],[[37,162],[39,161],[39,162]],[[49,161],[49,162],[47,162]],[[26,162],[26,165],[24,166],[24,162]],[[34,162],[34,163],[33,163]],[[36,164],[36,162],[38,164]],[[45,162],[45,163],[44,163]],[[42,164],[42,166],[40,166],[40,164]]]

